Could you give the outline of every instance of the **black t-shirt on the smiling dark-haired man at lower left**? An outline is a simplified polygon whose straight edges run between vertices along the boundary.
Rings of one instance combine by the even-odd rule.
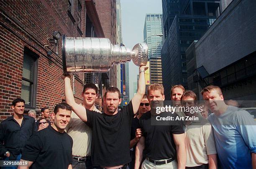
[[[32,169],[67,169],[72,164],[73,140],[51,126],[33,134],[24,148],[21,159],[31,161]]]

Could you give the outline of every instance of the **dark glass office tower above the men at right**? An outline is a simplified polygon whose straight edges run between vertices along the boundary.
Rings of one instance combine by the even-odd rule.
[[[220,0],[163,0],[165,36],[161,60],[166,99],[170,99],[172,85],[188,88],[185,51],[202,37],[221,12]]]

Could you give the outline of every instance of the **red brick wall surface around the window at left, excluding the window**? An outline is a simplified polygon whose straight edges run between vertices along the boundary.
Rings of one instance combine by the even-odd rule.
[[[36,111],[49,107],[51,112],[55,105],[64,98],[64,84],[60,76],[63,72],[61,64],[61,42],[59,55],[46,55],[50,48],[44,47],[47,38],[57,30],[61,35],[84,36],[85,4],[82,5],[82,23],[80,35],[77,21],[72,22],[68,15],[68,0],[59,3],[54,0],[38,1],[0,1],[0,121],[12,114],[10,109],[14,98],[21,96],[23,53],[25,47],[38,57]],[[77,20],[77,0],[74,0],[72,15]],[[75,99],[82,102],[81,92],[83,75],[75,79]],[[26,111],[29,109],[26,108]],[[38,117],[38,115],[37,115]]]

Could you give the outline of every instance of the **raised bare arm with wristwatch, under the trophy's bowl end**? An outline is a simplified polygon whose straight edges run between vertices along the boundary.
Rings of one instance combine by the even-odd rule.
[[[139,80],[138,80],[138,90],[135,96],[133,97],[132,104],[133,104],[133,113],[135,114],[138,111],[138,108],[141,103],[141,99],[145,94],[146,89],[146,82],[145,82],[145,71],[148,69],[147,66],[141,65],[140,66],[140,73],[139,73]]]

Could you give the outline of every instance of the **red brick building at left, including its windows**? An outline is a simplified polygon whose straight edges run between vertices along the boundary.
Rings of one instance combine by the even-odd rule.
[[[55,45],[45,46],[53,31],[105,37],[93,0],[0,1],[0,121],[12,114],[11,102],[17,97],[25,99],[26,111],[38,114],[42,107],[53,112],[64,98],[62,40],[57,42],[58,55]],[[83,85],[84,75],[75,75],[77,102],[82,102]]]

